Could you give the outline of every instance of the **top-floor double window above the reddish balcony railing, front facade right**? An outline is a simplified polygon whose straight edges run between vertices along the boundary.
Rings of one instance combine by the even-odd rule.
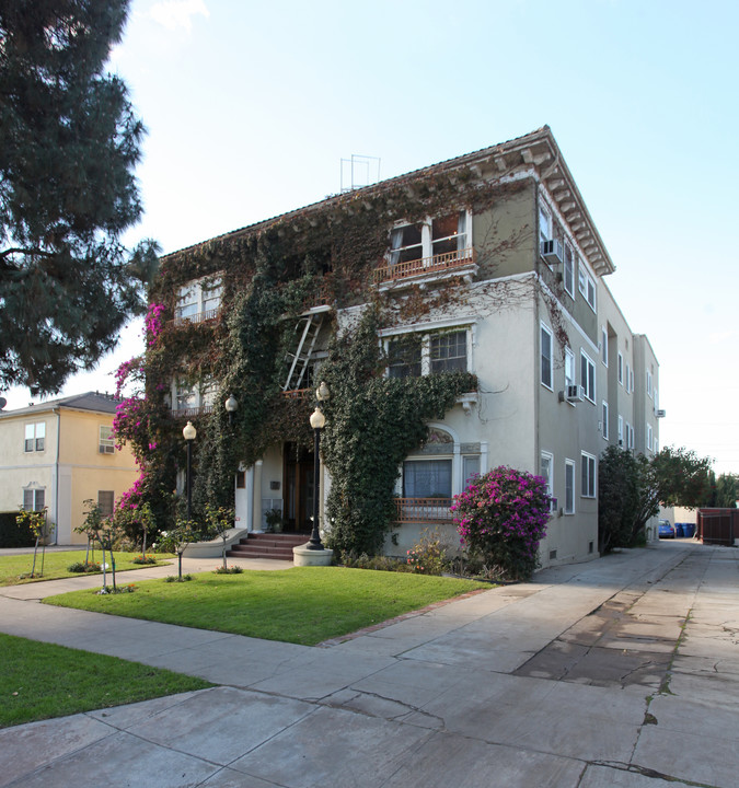
[[[396,227],[390,233],[389,262],[395,266],[438,255],[459,256],[467,246],[467,213],[455,211],[417,224]]]

